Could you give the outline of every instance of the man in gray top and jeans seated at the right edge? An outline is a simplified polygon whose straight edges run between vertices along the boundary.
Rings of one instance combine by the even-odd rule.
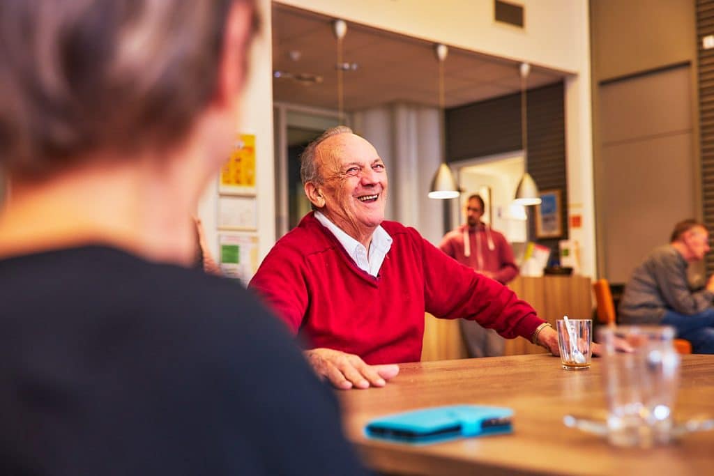
[[[702,223],[677,223],[670,244],[655,248],[633,271],[620,301],[620,322],[671,325],[694,353],[714,354],[714,275],[701,290],[687,279],[689,263],[703,260],[709,250]]]

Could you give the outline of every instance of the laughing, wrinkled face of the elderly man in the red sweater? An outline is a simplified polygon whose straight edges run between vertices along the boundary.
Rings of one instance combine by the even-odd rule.
[[[371,236],[384,220],[387,171],[376,149],[360,136],[341,133],[317,148],[321,211],[353,238]]]

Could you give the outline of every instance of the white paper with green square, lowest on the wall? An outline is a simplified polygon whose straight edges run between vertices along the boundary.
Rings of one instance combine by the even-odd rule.
[[[224,276],[247,286],[258,270],[258,236],[218,233],[218,265]]]

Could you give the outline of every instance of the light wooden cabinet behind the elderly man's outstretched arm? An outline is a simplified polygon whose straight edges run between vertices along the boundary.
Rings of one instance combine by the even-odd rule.
[[[567,314],[573,319],[590,319],[593,312],[590,278],[585,276],[518,276],[508,284],[518,298],[530,303],[540,318],[555,327],[555,320]],[[545,349],[522,338],[506,340],[506,355],[544,353]],[[448,360],[467,357],[458,322],[426,314],[421,360]]]

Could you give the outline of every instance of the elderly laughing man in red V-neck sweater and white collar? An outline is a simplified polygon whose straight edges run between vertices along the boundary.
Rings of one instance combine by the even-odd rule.
[[[371,143],[330,129],[306,148],[301,176],[313,212],[278,240],[250,286],[336,388],[382,386],[398,373],[393,364],[418,361],[425,310],[558,354],[553,328],[513,291],[384,220],[387,172]]]

